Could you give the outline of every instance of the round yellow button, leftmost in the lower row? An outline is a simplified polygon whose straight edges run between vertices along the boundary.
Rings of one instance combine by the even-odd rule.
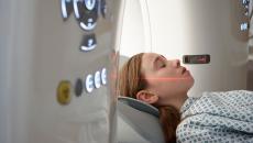
[[[70,102],[70,87],[72,85],[68,80],[63,80],[58,84],[57,101],[59,105],[68,105]]]

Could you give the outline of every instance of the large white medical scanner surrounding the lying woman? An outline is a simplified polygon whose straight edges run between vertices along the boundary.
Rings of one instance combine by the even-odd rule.
[[[251,0],[1,0],[0,143],[162,143],[157,109],[118,99],[133,54],[185,65],[190,96],[253,89]]]

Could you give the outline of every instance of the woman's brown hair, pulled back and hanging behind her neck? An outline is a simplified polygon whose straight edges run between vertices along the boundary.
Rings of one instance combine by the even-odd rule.
[[[142,79],[141,65],[144,53],[132,56],[120,70],[120,95],[136,98],[138,91],[146,88],[146,81]],[[156,107],[160,110],[160,123],[162,125],[166,143],[176,142],[176,128],[180,122],[180,114],[173,106]]]

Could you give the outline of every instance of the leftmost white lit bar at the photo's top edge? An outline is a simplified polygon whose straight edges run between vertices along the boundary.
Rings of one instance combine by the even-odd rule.
[[[61,7],[62,7],[62,15],[64,20],[66,20],[73,12],[73,2],[72,0],[62,0]]]

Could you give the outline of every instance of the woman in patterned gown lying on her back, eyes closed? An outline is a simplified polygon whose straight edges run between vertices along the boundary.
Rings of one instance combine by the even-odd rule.
[[[190,72],[155,53],[131,57],[120,73],[120,94],[160,110],[166,143],[253,143],[253,91],[188,97]]]

